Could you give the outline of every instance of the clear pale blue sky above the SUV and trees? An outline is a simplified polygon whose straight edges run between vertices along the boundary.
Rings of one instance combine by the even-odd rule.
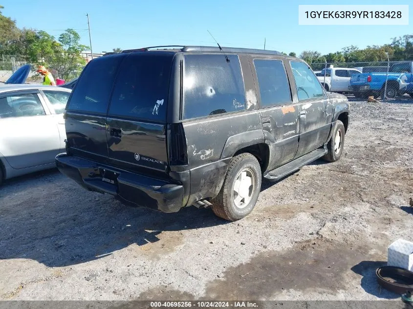
[[[345,4],[410,4],[411,0],[347,0]],[[2,14],[18,27],[45,30],[59,36],[77,29],[81,42],[92,50],[133,49],[154,45],[215,45],[263,48],[281,52],[317,50],[322,54],[349,45],[390,43],[391,38],[413,34],[413,5],[409,25],[324,26],[298,25],[299,4],[344,4],[343,1],[297,0],[0,0]]]

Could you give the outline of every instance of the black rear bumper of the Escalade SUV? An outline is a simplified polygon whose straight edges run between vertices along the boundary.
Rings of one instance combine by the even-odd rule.
[[[56,156],[56,166],[87,190],[109,193],[126,204],[162,212],[176,212],[183,206],[182,185],[118,170],[65,153]]]

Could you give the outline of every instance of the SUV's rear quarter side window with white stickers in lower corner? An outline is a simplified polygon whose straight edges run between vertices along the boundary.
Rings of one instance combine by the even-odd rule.
[[[245,109],[244,82],[237,55],[185,55],[183,118]]]

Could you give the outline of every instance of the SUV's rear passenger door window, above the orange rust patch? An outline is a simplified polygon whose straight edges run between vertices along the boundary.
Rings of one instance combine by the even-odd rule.
[[[281,60],[254,60],[260,87],[261,105],[291,102],[290,85]]]

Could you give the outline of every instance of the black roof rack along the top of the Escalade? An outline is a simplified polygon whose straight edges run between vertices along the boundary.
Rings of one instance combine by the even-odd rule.
[[[160,45],[160,46],[151,46],[143,47],[137,49],[128,49],[123,50],[122,53],[131,53],[138,51],[148,51],[153,48],[167,47],[179,47],[179,50],[182,52],[227,52],[227,53],[246,53],[246,54],[265,54],[265,55],[283,55],[282,53],[276,50],[266,50],[266,49],[251,49],[251,48],[236,48],[236,47],[222,47],[222,50],[217,46],[185,46],[185,45]]]

